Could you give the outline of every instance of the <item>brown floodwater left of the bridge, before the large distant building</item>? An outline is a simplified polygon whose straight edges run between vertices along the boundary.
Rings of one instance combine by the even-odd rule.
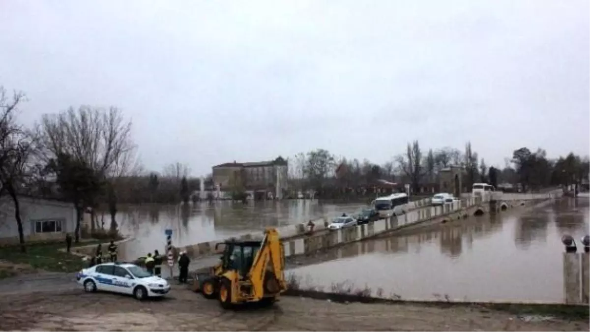
[[[281,227],[323,216],[353,213],[362,206],[362,203],[320,204],[317,200],[283,200],[120,207],[117,214],[119,229],[133,240],[120,245],[119,252],[123,259],[134,259],[155,249],[162,252],[166,229],[172,229],[173,245],[186,246],[260,232],[264,227]],[[100,220],[109,227],[108,214],[99,216],[99,223]]]

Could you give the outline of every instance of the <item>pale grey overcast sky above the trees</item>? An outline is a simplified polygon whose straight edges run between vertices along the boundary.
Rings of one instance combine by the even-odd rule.
[[[466,141],[589,154],[590,1],[0,0],[22,121],[116,105],[143,164],[193,175],[325,148],[391,160]]]

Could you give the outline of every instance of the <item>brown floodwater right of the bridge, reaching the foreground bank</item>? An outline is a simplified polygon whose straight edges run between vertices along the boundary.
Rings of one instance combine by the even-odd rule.
[[[352,243],[291,272],[302,287],[326,291],[366,286],[412,300],[563,302],[561,237],[579,243],[588,233],[590,198],[562,198]]]

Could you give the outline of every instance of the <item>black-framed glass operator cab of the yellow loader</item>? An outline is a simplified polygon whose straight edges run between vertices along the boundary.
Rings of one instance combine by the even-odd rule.
[[[241,278],[248,274],[254,263],[254,257],[260,250],[261,241],[224,242],[217,246],[224,245],[221,256],[222,271],[238,271]],[[216,249],[217,249],[216,246]]]

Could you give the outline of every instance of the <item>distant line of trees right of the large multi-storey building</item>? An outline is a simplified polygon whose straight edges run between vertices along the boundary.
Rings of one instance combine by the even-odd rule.
[[[451,165],[463,168],[464,188],[473,183],[490,183],[494,187],[510,184],[522,191],[579,184],[590,172],[590,160],[573,153],[551,159],[543,149],[531,152],[523,147],[505,158],[503,167],[494,167],[487,165],[471,142],[460,150],[424,149],[413,141],[404,153],[384,164],[338,157],[326,149],[301,152],[289,158],[289,181],[293,190],[314,190],[324,196],[338,196],[346,191],[358,194],[359,188],[374,186],[377,180],[410,184],[412,191],[418,192],[423,184],[438,184],[441,170]]]

